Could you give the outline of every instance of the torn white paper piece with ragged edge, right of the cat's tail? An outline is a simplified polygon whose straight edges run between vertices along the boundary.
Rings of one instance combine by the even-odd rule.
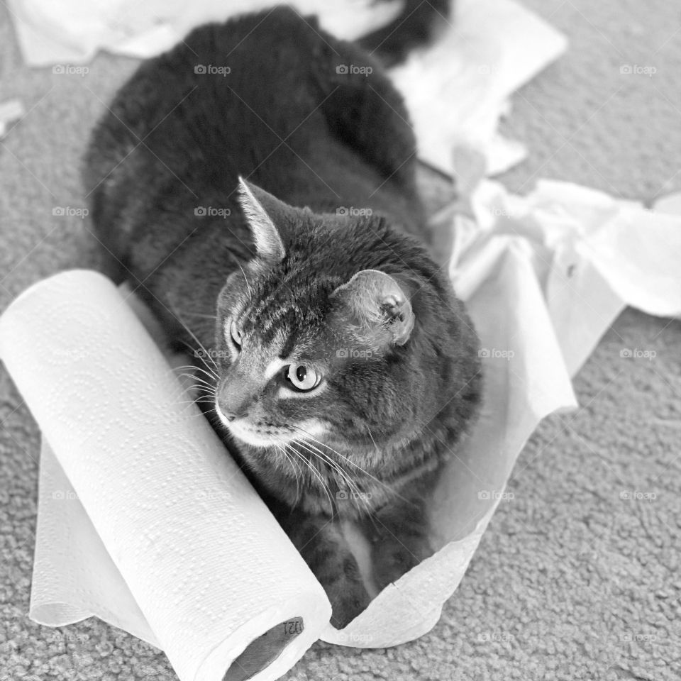
[[[459,0],[448,30],[391,70],[414,123],[419,157],[451,174],[465,140],[497,175],[524,160],[524,145],[497,133],[509,97],[557,59],[567,40],[513,0]]]

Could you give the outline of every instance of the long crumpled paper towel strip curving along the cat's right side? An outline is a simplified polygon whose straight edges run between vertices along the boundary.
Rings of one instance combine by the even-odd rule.
[[[480,421],[433,495],[437,552],[326,641],[385,647],[431,629],[509,498],[504,488],[529,436],[545,416],[577,407],[570,379],[611,322],[626,305],[681,315],[681,216],[549,180],[528,196],[483,180],[462,198],[468,215],[459,201],[433,228],[453,229],[450,277],[480,336]],[[622,361],[644,361],[644,352],[625,348]]]

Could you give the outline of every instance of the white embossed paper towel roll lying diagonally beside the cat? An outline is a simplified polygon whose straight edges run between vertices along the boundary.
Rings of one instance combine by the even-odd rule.
[[[0,319],[0,358],[179,678],[291,668],[326,594],[114,285],[35,284]]]

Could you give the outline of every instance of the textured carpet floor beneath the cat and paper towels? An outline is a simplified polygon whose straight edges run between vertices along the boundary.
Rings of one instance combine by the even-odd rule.
[[[536,177],[567,179],[643,201],[681,189],[678,7],[528,5],[567,33],[570,51],[514,97],[506,132],[531,158],[504,182],[525,192]],[[21,96],[30,109],[0,146],[3,309],[41,277],[96,266],[87,221],[52,208],[83,206],[85,135],[135,62],[100,56],[84,77],[29,70],[3,7],[0,22],[0,99]],[[656,355],[625,360],[624,348]],[[514,499],[436,628],[389,650],[317,644],[289,679],[681,677],[681,323],[626,311],[576,388],[582,409],[531,438]],[[55,630],[28,620],[38,432],[4,371],[0,421],[0,681],[172,680],[162,654],[100,621]]]

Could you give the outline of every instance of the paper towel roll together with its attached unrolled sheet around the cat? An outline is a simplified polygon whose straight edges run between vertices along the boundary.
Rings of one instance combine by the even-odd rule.
[[[563,182],[514,196],[483,180],[469,198],[468,215],[433,221],[454,231],[482,416],[433,494],[436,553],[342,631],[128,294],[88,270],[21,294],[0,358],[43,431],[31,618],[96,615],[165,650],[182,681],[275,679],[317,638],[375,648],[429,631],[527,438],[577,406],[570,377],[611,321],[627,304],[681,314],[681,216]]]

